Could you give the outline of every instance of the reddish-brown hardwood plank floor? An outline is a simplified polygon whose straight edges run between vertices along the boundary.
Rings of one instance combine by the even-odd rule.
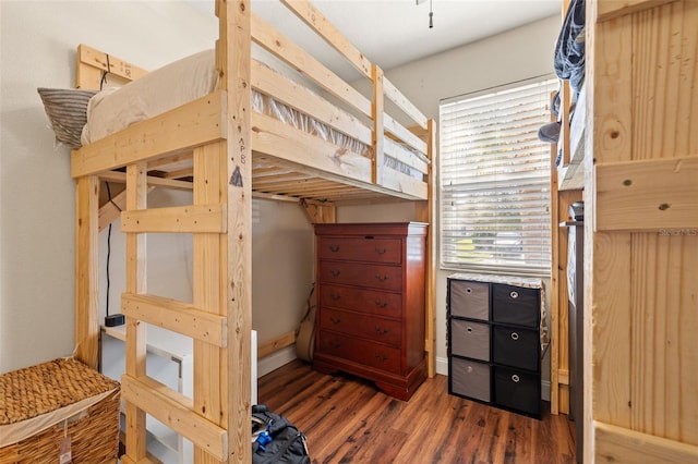
[[[296,361],[260,378],[258,402],[305,434],[313,463],[575,462],[566,415],[537,420],[453,396],[445,376],[404,402]]]

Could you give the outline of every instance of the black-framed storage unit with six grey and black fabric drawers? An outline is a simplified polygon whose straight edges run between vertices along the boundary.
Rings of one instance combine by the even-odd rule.
[[[541,289],[537,279],[448,278],[448,393],[540,418]]]

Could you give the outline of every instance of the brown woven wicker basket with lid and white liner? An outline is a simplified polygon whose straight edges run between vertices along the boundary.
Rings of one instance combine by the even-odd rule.
[[[64,436],[71,437],[73,464],[116,463],[119,396],[118,382],[72,358],[3,374],[0,440],[14,441],[10,429],[17,437],[37,431],[0,448],[0,464],[58,463]]]

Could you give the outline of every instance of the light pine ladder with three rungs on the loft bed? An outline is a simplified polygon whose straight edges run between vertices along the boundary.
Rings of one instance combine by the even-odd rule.
[[[227,182],[225,142],[194,150],[193,205],[147,208],[144,163],[127,167],[127,369],[121,379],[127,401],[127,455],[146,459],[146,412],[191,440],[195,453],[227,460]],[[191,304],[152,295],[146,289],[146,233],[193,234]],[[185,398],[146,375],[146,326],[156,325],[194,340],[194,399]],[[202,455],[203,456],[203,455]],[[198,457],[196,462],[202,462]]]

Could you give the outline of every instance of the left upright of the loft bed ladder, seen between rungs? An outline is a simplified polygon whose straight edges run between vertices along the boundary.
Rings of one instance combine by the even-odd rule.
[[[145,163],[130,164],[127,168],[127,208],[147,207],[147,184]],[[146,236],[127,234],[127,278],[125,291],[144,293],[146,291]],[[146,339],[145,323],[127,317],[125,374],[133,377],[145,376]],[[146,457],[145,411],[134,403],[125,404],[127,411],[127,453],[132,461]]]

